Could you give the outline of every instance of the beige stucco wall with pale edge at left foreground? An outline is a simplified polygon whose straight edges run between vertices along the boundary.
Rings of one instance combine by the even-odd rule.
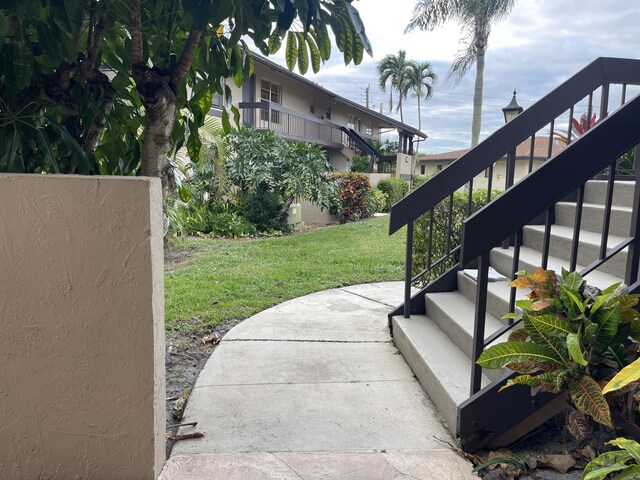
[[[157,179],[0,175],[0,478],[155,479]]]

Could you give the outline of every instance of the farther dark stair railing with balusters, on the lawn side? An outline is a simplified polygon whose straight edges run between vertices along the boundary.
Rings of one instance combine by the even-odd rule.
[[[420,309],[424,303],[420,297],[424,295],[430,282],[448,269],[459,269],[460,265],[464,265],[464,262],[460,261],[462,249],[459,240],[462,222],[483,203],[491,201],[492,196],[495,196],[492,195],[492,190],[506,192],[512,187],[516,177],[534,175],[536,169],[548,164],[548,159],[561,154],[567,145],[575,143],[580,137],[571,127],[576,112],[586,112],[585,130],[590,130],[592,112],[599,112],[598,123],[601,123],[613,110],[611,105],[615,105],[613,100],[616,97],[620,99],[620,106],[626,104],[628,90],[632,85],[640,85],[640,61],[613,58],[595,60],[395,204],[391,209],[391,234],[405,225],[416,222],[419,227],[424,228],[415,228],[414,225],[414,228],[407,229],[408,273],[405,275],[408,281],[421,286],[422,289],[411,296],[410,293],[406,293],[411,292],[411,285],[407,286],[403,306],[392,315],[402,312],[408,317],[411,313],[422,313]],[[599,105],[594,104],[596,99]],[[564,132],[565,128],[566,135],[563,135],[560,132]],[[478,200],[477,191],[481,188],[487,190],[484,202]],[[465,202],[465,192],[466,205],[461,205]],[[530,200],[531,198],[527,199]],[[450,208],[452,202],[455,203],[454,208]],[[531,203],[537,204],[537,198]],[[538,215],[537,219],[527,218],[529,222],[535,220],[536,223],[545,224],[545,239],[548,238],[553,223],[552,207],[553,205],[549,206],[548,211],[543,216]],[[520,205],[517,208],[519,209]],[[461,211],[464,213],[460,213]],[[510,213],[513,215],[514,211]],[[437,220],[443,218],[446,222],[446,242],[435,248],[435,245],[432,246],[435,236],[442,236],[442,230],[437,229]],[[414,241],[424,244],[424,238],[416,240],[415,235],[418,234],[429,238],[427,258],[424,258],[424,248],[421,252],[414,249]],[[514,243],[515,234],[517,229],[502,237],[507,239],[504,242],[505,247]],[[543,266],[548,258],[548,245],[545,251]],[[476,262],[477,258],[476,255],[473,262]]]

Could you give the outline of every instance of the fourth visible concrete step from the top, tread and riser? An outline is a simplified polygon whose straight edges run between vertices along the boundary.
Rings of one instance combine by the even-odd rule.
[[[514,248],[494,248],[491,251],[490,262],[491,266],[503,275],[511,275],[511,265],[513,263]],[[520,262],[518,264],[518,270],[526,270],[533,273],[542,262],[542,253],[539,250],[534,250],[527,246],[520,247]],[[569,262],[558,257],[549,256],[547,261],[547,269],[553,270],[556,273],[560,273],[562,269],[569,269]],[[582,269],[582,265],[577,265],[576,269]],[[610,275],[601,271],[593,271],[586,275],[585,280],[593,287],[597,287],[601,290],[607,288],[609,285],[618,283],[621,278],[615,275]]]

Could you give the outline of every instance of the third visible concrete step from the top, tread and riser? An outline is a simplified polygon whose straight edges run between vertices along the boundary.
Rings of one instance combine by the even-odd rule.
[[[578,247],[578,263],[588,265],[598,259],[600,252],[601,235],[587,230],[580,231],[580,243]],[[544,225],[527,225],[522,229],[522,243],[535,250],[542,251],[544,239]],[[617,246],[624,237],[609,235],[607,246],[609,249]],[[573,243],[573,228],[564,225],[551,226],[551,239],[549,255],[569,261],[571,245]],[[611,275],[624,275],[627,262],[626,249],[604,263],[599,270]]]

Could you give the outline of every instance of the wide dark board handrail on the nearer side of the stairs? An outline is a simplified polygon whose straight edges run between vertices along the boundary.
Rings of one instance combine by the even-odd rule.
[[[571,148],[523,178],[518,188],[507,190],[467,218],[462,227],[461,265],[491,250],[640,143],[638,118],[640,95],[591,128]],[[607,141],[603,142],[603,138]],[[513,215],[514,205],[518,215]]]

